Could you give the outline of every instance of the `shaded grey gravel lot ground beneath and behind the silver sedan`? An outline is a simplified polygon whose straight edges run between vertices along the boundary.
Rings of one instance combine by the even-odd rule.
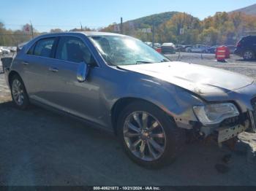
[[[256,62],[237,60],[181,57],[256,79]],[[213,143],[189,144],[172,165],[147,170],[128,159],[112,134],[36,106],[20,111],[10,100],[0,74],[0,185],[256,185],[255,134],[241,134],[233,151]],[[225,156],[230,160],[223,161]]]

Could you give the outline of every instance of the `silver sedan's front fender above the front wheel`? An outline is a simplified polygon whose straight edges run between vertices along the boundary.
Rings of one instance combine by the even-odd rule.
[[[120,99],[137,98],[158,106],[181,128],[192,128],[190,122],[197,121],[192,106],[203,105],[203,101],[189,91],[146,75],[131,74],[129,71],[124,71],[122,75],[118,87],[113,83],[113,87],[105,89],[106,97],[111,101],[110,108]]]

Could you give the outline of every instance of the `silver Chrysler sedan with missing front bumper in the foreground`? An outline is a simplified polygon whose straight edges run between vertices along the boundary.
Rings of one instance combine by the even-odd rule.
[[[222,144],[255,129],[253,79],[170,62],[121,34],[37,36],[18,52],[5,77],[19,109],[38,104],[113,130],[127,155],[147,167],[173,161],[187,130]]]

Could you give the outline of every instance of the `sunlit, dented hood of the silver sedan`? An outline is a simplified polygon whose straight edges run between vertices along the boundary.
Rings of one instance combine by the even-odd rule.
[[[162,79],[199,95],[228,93],[253,83],[253,79],[241,74],[184,62],[147,63],[118,68]]]

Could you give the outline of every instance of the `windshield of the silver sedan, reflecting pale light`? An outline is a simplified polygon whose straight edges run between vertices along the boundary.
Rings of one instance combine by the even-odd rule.
[[[129,36],[91,36],[91,41],[112,66],[169,61],[147,44]]]

